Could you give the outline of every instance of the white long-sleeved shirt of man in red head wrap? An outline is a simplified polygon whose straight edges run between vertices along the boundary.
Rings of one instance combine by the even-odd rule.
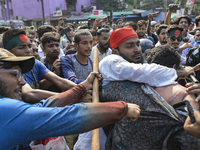
[[[157,64],[130,63],[119,55],[106,56],[99,64],[103,86],[110,81],[129,80],[161,87],[176,84],[176,70]]]

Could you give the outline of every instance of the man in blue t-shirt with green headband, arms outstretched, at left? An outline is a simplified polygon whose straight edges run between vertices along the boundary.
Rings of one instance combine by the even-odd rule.
[[[3,35],[3,45],[5,49],[15,56],[32,56],[31,43],[24,30],[12,29],[5,32]],[[22,87],[22,97],[28,103],[36,103],[55,94],[50,91],[38,90],[42,79],[48,79],[61,90],[68,90],[76,85],[49,71],[38,60],[35,60],[34,68],[23,76],[28,84]]]

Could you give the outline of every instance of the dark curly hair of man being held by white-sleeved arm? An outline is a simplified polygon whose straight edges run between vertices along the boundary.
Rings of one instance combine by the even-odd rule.
[[[146,60],[149,64],[156,63],[173,68],[174,64],[177,67],[180,66],[181,56],[173,47],[162,45],[151,49],[147,54]]]

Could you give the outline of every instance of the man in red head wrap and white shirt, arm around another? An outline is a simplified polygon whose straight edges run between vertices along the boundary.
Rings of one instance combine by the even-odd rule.
[[[113,31],[110,46],[113,55],[100,62],[103,85],[122,80],[148,83],[155,87],[176,83],[177,74],[174,69],[156,64],[142,64],[140,41],[131,26]]]

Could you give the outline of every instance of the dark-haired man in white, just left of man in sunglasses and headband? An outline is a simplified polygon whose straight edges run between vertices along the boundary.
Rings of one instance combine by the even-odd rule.
[[[158,30],[156,31],[158,42],[156,43],[155,47],[167,44],[167,25],[160,25]]]

